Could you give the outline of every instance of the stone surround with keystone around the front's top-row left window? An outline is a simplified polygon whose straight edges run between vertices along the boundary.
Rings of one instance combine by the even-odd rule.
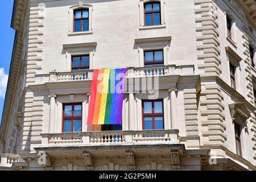
[[[75,10],[78,9],[88,9],[89,10],[89,31],[81,31],[81,32],[74,32],[73,30],[73,23],[74,23],[74,18],[73,14]],[[86,35],[86,34],[92,34],[93,33],[93,28],[92,28],[92,11],[93,11],[93,6],[88,5],[83,2],[79,2],[77,5],[73,5],[69,7],[69,27],[68,27],[68,35]]]

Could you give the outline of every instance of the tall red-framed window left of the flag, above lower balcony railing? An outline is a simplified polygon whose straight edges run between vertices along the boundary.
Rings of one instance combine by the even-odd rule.
[[[82,131],[82,104],[63,105],[63,132]]]

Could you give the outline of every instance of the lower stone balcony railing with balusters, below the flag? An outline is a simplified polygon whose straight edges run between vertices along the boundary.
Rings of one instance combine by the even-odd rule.
[[[179,130],[98,131],[41,135],[43,147],[179,143]]]

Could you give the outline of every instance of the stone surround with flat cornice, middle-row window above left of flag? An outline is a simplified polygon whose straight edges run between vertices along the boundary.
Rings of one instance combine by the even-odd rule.
[[[96,42],[91,43],[75,43],[75,44],[63,44],[63,49],[66,53],[66,71],[72,71],[72,56],[89,55],[89,69],[93,69],[93,56]]]

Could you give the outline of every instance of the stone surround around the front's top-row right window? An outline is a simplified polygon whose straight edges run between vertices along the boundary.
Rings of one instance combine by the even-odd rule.
[[[160,2],[160,10],[161,10],[161,24],[153,25],[153,26],[145,26],[144,25],[144,3],[147,2]],[[139,30],[151,29],[151,28],[165,28],[166,22],[164,19],[164,4],[165,0],[139,0]]]

